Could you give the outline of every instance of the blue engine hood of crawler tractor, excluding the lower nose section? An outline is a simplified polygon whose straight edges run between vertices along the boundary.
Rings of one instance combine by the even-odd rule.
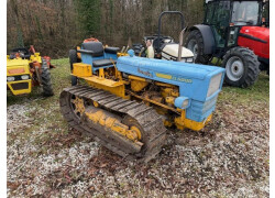
[[[210,98],[207,95],[212,77],[217,75],[224,76],[224,69],[221,67],[138,56],[119,57],[117,68],[125,75],[176,85],[179,87],[179,96],[189,97],[198,101],[206,101],[207,98]],[[220,91],[221,81],[219,85]],[[217,94],[213,94],[212,97]]]

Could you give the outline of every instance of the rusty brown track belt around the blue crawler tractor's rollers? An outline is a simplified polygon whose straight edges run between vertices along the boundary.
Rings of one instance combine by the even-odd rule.
[[[142,146],[140,153],[129,153],[121,142],[114,141],[108,135],[102,135],[103,133],[100,132],[102,130],[97,131],[95,128],[91,128],[91,122],[87,123],[75,116],[69,103],[72,95],[84,98],[87,101],[97,101],[102,109],[109,112],[132,117],[144,130],[147,144]],[[107,148],[128,160],[138,160],[146,163],[161,152],[166,141],[166,128],[163,124],[162,117],[153,108],[144,103],[125,100],[108,91],[86,86],[65,88],[61,94],[59,103],[61,111],[72,128],[90,135]]]

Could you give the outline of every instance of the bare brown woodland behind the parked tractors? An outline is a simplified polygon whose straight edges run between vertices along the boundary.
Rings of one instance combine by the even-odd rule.
[[[85,38],[97,37],[109,46],[142,43],[157,33],[162,11],[177,10],[185,25],[201,23],[205,0],[8,0],[7,53],[13,47],[34,45],[42,55],[68,56]],[[178,15],[166,15],[162,34],[176,41]]]

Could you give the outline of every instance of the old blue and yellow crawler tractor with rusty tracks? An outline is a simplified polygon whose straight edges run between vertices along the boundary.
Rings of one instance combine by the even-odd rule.
[[[70,127],[125,158],[147,162],[165,144],[166,128],[199,131],[211,120],[223,68],[143,58],[133,51],[118,57],[118,51],[89,42],[77,52],[77,85],[59,98]]]

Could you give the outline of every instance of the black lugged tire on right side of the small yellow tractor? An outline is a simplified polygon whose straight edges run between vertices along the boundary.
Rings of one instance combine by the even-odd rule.
[[[44,58],[42,59],[41,66],[41,84],[44,97],[51,97],[54,95],[50,68],[47,67],[47,62]]]

